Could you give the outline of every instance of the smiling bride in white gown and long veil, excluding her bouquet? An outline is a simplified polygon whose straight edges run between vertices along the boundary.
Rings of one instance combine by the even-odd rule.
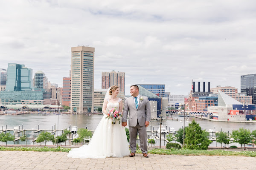
[[[79,148],[71,149],[68,153],[70,158],[106,158],[123,157],[130,154],[125,127],[117,121],[112,124],[111,119],[106,119],[107,110],[117,108],[122,113],[122,99],[117,97],[119,87],[113,85],[108,89],[103,107],[103,117],[96,127],[90,143],[84,144]]]

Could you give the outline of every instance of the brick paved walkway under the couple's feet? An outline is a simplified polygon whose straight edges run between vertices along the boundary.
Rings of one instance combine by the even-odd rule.
[[[0,151],[0,170],[256,170],[256,158],[141,154],[135,157],[72,159],[63,152]]]

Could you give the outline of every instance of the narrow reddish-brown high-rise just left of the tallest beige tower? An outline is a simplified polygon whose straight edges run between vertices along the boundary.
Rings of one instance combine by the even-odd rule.
[[[71,99],[71,78],[63,77],[62,105],[70,106]]]

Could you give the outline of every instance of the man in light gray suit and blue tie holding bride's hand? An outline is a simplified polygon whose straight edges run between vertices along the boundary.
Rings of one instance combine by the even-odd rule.
[[[122,116],[122,126],[127,126],[127,115],[129,114],[129,131],[130,131],[130,156],[135,156],[137,132],[140,137],[140,148],[143,156],[148,158],[147,149],[147,127],[150,121],[150,104],[148,97],[140,96],[139,87],[132,85],[130,88],[131,97],[126,99]]]

